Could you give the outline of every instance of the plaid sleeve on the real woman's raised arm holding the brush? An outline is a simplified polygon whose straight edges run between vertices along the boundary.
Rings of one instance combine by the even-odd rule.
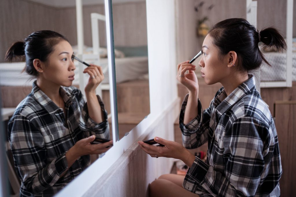
[[[211,134],[213,134],[213,131],[210,130],[210,119],[213,100],[210,103],[210,107],[202,111],[202,104],[198,99],[198,115],[192,121],[185,125],[184,114],[188,101],[188,96],[189,94],[186,95],[181,106],[179,124],[182,132],[183,146],[187,149],[194,149],[207,142],[209,135],[211,136]]]

